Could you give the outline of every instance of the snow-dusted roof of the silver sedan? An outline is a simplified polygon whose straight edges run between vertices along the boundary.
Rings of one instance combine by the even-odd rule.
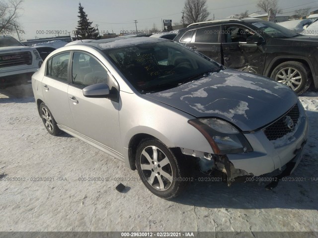
[[[106,50],[106,49],[114,49],[119,47],[125,46],[133,46],[133,45],[140,45],[144,43],[155,43],[155,42],[163,42],[169,41],[163,38],[155,38],[155,37],[121,37],[121,38],[110,38],[110,39],[101,39],[92,42],[80,42],[76,44],[84,45],[84,46],[92,46],[99,50]],[[74,46],[74,45],[73,45]],[[68,46],[66,46],[68,47]]]

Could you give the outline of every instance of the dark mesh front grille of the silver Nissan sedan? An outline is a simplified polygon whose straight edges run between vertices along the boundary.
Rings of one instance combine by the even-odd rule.
[[[292,119],[294,122],[294,125],[292,128],[288,127],[287,119],[289,118],[287,117],[290,117],[290,119]],[[267,126],[264,130],[264,133],[269,140],[276,140],[278,138],[281,138],[287,133],[292,132],[295,129],[298,119],[299,119],[299,108],[298,108],[298,105],[296,104],[284,117],[275,121],[273,124]]]

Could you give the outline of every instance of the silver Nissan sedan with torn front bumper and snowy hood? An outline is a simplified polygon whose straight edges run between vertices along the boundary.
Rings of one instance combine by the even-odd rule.
[[[287,86],[160,38],[60,48],[32,87],[50,134],[65,131],[124,161],[165,199],[184,190],[195,168],[221,173],[228,185],[283,170],[278,181],[299,164],[308,135]]]

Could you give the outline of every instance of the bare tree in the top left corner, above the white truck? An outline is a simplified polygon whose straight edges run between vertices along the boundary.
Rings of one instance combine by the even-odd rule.
[[[0,34],[7,35],[15,31],[24,33],[18,21],[23,0],[0,1]]]

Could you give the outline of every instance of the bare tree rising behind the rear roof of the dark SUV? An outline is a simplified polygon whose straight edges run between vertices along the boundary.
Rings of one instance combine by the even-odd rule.
[[[205,21],[210,15],[207,0],[186,0],[183,12],[186,24]]]

